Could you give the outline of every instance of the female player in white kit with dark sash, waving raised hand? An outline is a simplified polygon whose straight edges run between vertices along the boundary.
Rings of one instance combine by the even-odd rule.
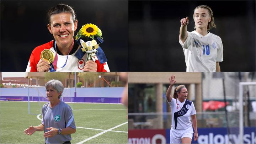
[[[192,123],[194,127],[194,140],[198,138],[197,134],[197,120],[196,120],[196,110],[192,101],[187,100],[187,89],[184,85],[179,85],[175,87],[174,95],[171,97],[171,89],[175,84],[175,76],[172,75],[170,80],[170,86],[166,92],[166,98],[171,106],[172,111],[172,126],[170,130],[170,143],[171,144],[190,144],[193,137],[193,128],[190,121],[192,118]]]

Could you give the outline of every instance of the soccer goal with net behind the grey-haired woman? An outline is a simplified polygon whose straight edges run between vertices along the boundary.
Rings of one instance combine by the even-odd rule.
[[[42,114],[42,107],[49,102],[46,95],[46,88],[44,86],[28,86],[28,113]],[[68,103],[73,110],[74,91],[70,88],[64,88],[60,100]]]

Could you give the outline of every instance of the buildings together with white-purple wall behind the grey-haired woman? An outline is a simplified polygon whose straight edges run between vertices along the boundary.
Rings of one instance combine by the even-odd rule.
[[[7,75],[10,77],[6,77]],[[23,75],[23,77],[18,75]],[[49,80],[55,79],[61,81],[64,85],[62,101],[121,103],[126,85],[126,82],[121,80],[123,79],[123,73],[121,72],[1,72],[0,76],[1,101],[48,101],[45,84]]]

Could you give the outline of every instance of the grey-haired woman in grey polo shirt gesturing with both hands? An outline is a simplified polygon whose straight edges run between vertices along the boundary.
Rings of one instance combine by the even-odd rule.
[[[73,112],[68,104],[60,101],[64,86],[59,80],[46,83],[48,103],[43,106],[42,122],[24,130],[27,135],[44,131],[45,143],[70,143],[71,134],[76,132]]]

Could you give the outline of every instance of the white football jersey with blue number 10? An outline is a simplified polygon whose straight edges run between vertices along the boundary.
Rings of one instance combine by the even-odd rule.
[[[184,43],[179,39],[185,55],[187,72],[215,72],[216,62],[223,61],[223,45],[219,36],[208,32],[202,36],[196,31],[187,32]]]

